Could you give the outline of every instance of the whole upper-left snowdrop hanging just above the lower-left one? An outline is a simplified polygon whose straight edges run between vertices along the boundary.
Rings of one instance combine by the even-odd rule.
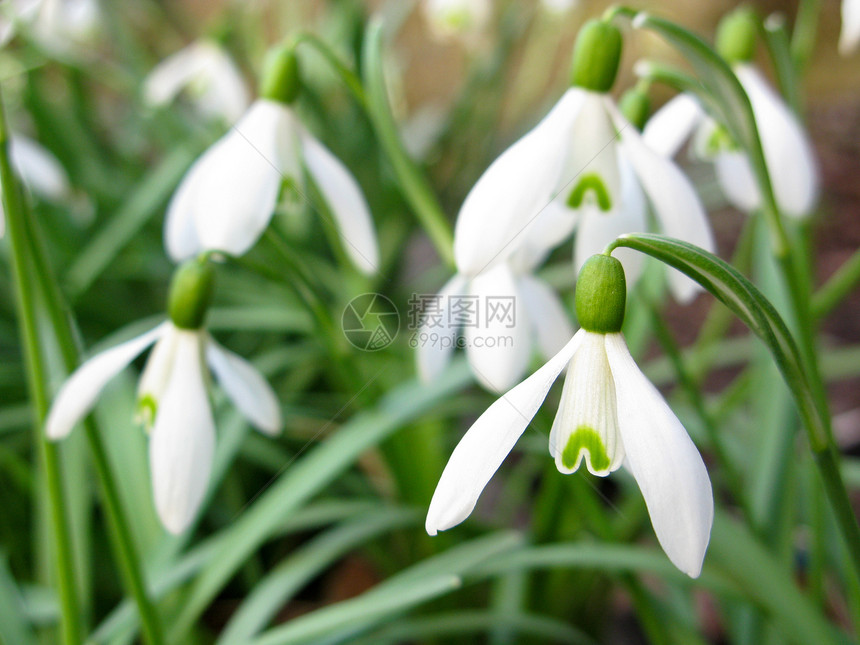
[[[346,254],[372,273],[379,250],[361,189],[290,107],[299,89],[295,55],[282,49],[271,60],[262,97],[192,164],[173,195],[167,251],[176,261],[204,251],[242,255],[268,226],[281,185],[301,192],[304,167],[334,217]]]

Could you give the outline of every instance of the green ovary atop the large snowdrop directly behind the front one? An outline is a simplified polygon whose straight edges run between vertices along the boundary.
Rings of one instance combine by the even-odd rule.
[[[570,83],[593,92],[608,92],[621,62],[621,32],[602,20],[590,20],[579,30],[573,46]]]

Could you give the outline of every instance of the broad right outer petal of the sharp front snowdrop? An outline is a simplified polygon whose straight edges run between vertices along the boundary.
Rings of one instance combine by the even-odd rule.
[[[654,532],[672,563],[698,577],[714,499],[702,457],[684,426],[636,366],[621,334],[606,336],[626,466],[642,490]]]

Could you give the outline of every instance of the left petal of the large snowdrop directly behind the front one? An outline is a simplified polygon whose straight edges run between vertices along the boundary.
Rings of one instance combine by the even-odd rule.
[[[454,230],[457,268],[473,276],[517,250],[550,202],[584,93],[570,89],[534,129],[505,150],[469,191]]]

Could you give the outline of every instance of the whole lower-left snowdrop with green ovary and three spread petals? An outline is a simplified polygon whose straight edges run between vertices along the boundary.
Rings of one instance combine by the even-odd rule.
[[[171,287],[169,319],[81,365],[60,388],[45,425],[49,439],[68,435],[95,405],[107,382],[154,344],[138,386],[138,410],[151,429],[149,464],[155,507],[165,528],[176,534],[196,516],[212,469],[215,422],[206,365],[258,430],[274,435],[282,423],[277,398],[265,379],[204,329],[211,292],[212,269],[207,261],[183,264]]]

